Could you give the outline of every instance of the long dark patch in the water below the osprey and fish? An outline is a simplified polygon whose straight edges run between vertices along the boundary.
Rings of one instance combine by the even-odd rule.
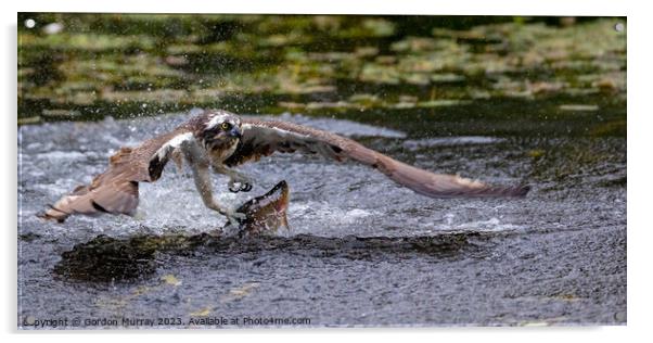
[[[77,244],[62,254],[54,272],[68,280],[87,282],[119,282],[151,277],[158,266],[156,255],[204,254],[239,255],[284,251],[299,255],[348,259],[383,258],[386,254],[426,254],[435,257],[453,256],[473,247],[469,238],[478,232],[441,233],[426,237],[356,237],[342,238],[297,234],[294,237],[221,236],[220,233],[145,234],[115,239],[104,234]]]

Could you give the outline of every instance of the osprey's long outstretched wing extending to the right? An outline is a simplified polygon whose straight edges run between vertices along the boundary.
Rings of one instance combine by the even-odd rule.
[[[495,187],[454,175],[434,174],[396,161],[331,132],[286,123],[243,119],[242,139],[225,161],[228,166],[258,161],[274,152],[321,154],[336,161],[354,160],[379,169],[393,181],[432,198],[522,196],[528,186]]]

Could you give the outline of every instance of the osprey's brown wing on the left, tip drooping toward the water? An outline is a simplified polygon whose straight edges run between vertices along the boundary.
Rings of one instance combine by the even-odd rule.
[[[184,135],[188,135],[188,129],[180,127],[146,140],[137,148],[120,148],[108,158],[108,168],[95,176],[91,185],[77,187],[39,216],[62,223],[72,214],[132,215],[139,203],[139,182],[158,179],[169,156],[152,157],[166,143],[175,142]],[[151,165],[151,160],[156,160],[156,163]]]

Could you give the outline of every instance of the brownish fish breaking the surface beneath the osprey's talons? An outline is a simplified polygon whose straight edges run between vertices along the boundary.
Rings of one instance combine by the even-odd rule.
[[[287,224],[287,205],[290,202],[290,187],[285,180],[277,183],[267,193],[253,198],[235,209],[245,215],[236,218],[239,237],[260,233],[276,233],[280,227],[290,230]],[[222,231],[233,228],[227,223]]]

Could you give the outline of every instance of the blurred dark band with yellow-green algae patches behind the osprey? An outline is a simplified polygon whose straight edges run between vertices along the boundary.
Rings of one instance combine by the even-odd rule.
[[[37,26],[18,28],[20,125],[225,107],[448,127],[418,136],[625,135],[625,18],[26,18]],[[47,34],[49,23],[63,29]],[[478,118],[498,124],[447,124]]]

